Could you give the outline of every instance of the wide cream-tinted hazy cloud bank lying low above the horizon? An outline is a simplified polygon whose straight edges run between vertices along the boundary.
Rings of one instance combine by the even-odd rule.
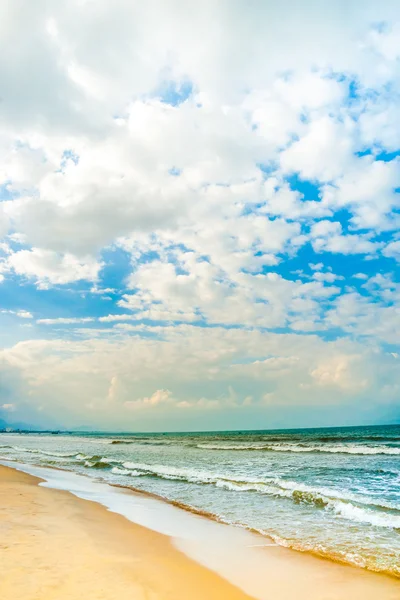
[[[226,426],[239,414],[244,426],[249,407],[259,415],[266,410],[266,394],[278,409],[373,404],[382,382],[395,383],[398,373],[393,356],[374,345],[188,325],[113,341],[21,342],[3,350],[0,361],[19,373],[33,405],[40,401],[45,414],[66,424],[91,418],[152,430],[173,426],[184,408],[191,409],[191,427],[209,422],[210,411],[224,414]]]

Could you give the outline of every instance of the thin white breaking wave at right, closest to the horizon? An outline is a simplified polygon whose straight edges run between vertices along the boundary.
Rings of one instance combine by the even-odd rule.
[[[362,445],[332,445],[310,446],[306,444],[197,444],[202,450],[230,450],[230,451],[266,451],[266,452],[310,452],[327,454],[359,454],[359,455],[400,455],[400,448],[387,446],[362,446]]]

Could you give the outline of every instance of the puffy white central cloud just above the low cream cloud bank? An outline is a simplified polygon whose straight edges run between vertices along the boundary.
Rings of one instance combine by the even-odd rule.
[[[138,266],[129,280],[136,293],[124,295],[119,305],[135,311],[136,318],[156,321],[205,319],[209,323],[284,327],[301,318],[314,322],[318,329],[323,299],[340,291],[325,281],[291,281],[274,272],[228,277],[194,253],[184,253],[180,259],[182,273],[173,264],[159,261]]]

